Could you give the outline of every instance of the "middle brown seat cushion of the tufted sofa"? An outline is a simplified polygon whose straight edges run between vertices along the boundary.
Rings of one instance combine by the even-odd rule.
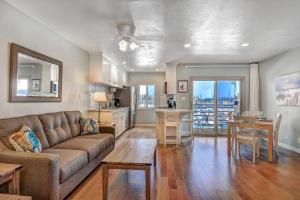
[[[54,145],[54,149],[82,150],[88,153],[89,162],[96,158],[105,149],[105,142],[98,139],[75,137]]]

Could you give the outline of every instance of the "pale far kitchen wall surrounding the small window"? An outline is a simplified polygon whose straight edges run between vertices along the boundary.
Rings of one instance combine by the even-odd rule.
[[[155,85],[156,106],[159,102],[159,95],[163,93],[165,82],[164,72],[135,72],[129,73],[128,81],[130,86],[136,86],[138,96],[138,86],[142,84]],[[154,124],[155,123],[155,108],[154,109],[137,109],[136,124]]]

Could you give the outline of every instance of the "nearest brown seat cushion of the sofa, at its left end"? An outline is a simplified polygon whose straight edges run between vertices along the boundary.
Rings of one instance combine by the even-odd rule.
[[[60,158],[59,182],[63,183],[88,163],[87,152],[69,149],[48,148],[42,153],[57,154]]]

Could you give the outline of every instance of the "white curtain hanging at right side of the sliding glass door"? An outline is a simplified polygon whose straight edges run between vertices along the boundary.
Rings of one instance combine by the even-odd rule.
[[[250,64],[250,111],[259,111],[258,63]]]

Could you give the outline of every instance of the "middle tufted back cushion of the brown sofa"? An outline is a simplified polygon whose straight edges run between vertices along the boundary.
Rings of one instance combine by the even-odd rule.
[[[68,120],[64,112],[39,115],[46,133],[49,146],[53,146],[72,137]]]

